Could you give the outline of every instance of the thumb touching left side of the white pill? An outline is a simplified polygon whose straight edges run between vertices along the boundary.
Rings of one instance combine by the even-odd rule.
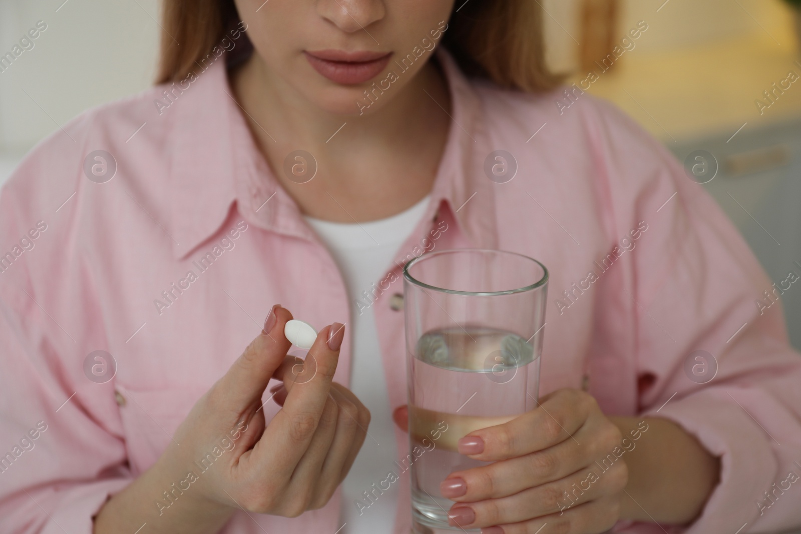
[[[264,319],[264,329],[219,379],[218,386],[236,407],[260,401],[273,373],[284,362],[292,343],[284,335],[284,325],[292,319],[288,309],[276,304]]]

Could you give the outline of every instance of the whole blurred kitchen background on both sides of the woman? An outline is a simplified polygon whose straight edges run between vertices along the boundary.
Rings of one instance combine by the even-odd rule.
[[[801,349],[801,283],[787,283],[801,275],[801,1],[538,1],[551,68],[688,162],[789,285],[780,299]],[[0,183],[59,125],[151,84],[158,21],[156,0],[0,0]]]

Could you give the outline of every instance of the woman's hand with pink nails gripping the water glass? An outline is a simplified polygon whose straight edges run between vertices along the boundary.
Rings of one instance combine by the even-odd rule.
[[[618,520],[628,470],[622,460],[606,471],[600,462],[621,440],[592,396],[545,395],[531,412],[459,440],[459,452],[493,464],[441,484],[457,501],[449,522],[484,534],[533,534],[546,523],[544,532],[605,532]]]

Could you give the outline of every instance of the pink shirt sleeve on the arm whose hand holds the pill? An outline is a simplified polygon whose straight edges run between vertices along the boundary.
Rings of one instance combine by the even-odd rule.
[[[75,148],[48,145],[0,191],[0,532],[91,534],[132,476],[114,380],[85,372],[103,320],[70,252],[75,203],[57,211],[80,186],[44,163],[69,167]]]

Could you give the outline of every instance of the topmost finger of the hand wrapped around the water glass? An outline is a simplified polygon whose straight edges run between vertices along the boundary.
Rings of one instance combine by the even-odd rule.
[[[470,432],[459,440],[459,452],[493,462],[553,447],[582,428],[595,399],[583,391],[562,389],[545,395],[540,405],[508,423]]]

